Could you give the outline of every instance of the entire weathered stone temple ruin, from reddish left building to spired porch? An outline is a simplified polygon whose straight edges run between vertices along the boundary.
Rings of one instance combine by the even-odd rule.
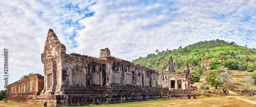
[[[190,70],[174,70],[170,56],[166,71],[156,71],[111,56],[108,48],[100,57],[66,54],[52,29],[44,53],[44,76],[39,74],[9,85],[9,100],[50,106],[143,101],[159,98],[195,98],[190,93]]]

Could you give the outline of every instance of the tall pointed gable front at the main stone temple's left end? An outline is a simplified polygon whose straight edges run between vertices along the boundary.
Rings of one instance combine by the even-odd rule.
[[[61,85],[61,81],[57,78],[61,78],[61,63],[58,56],[66,54],[65,45],[61,44],[58,37],[49,29],[47,39],[45,42],[44,53],[41,54],[41,61],[44,63],[44,81],[45,87],[42,90],[42,94],[54,95],[56,88]]]

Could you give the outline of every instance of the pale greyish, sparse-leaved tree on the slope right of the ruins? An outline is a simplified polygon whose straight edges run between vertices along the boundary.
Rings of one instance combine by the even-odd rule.
[[[233,84],[233,80],[231,78],[231,75],[228,74],[227,72],[220,73],[217,76],[216,81],[220,82],[224,86],[224,88],[230,87]]]

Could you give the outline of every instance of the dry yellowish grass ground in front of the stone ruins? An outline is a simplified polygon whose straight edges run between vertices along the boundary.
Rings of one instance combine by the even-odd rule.
[[[253,96],[216,96],[216,97],[197,97],[197,99],[159,99],[140,102],[125,102],[116,104],[99,104],[99,105],[84,105],[84,106],[256,106],[256,104],[247,101],[239,100],[249,99],[256,101]],[[41,106],[32,103],[19,103],[9,101],[5,103],[0,101],[0,106]]]

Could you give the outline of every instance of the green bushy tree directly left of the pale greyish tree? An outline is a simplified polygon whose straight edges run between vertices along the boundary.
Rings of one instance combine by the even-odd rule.
[[[222,70],[214,70],[214,71],[210,71],[208,73],[208,76],[205,78],[206,82],[209,83],[211,85],[211,87],[215,87],[217,89],[217,87],[221,87],[221,83],[219,81],[216,81],[217,76],[225,71]]]

